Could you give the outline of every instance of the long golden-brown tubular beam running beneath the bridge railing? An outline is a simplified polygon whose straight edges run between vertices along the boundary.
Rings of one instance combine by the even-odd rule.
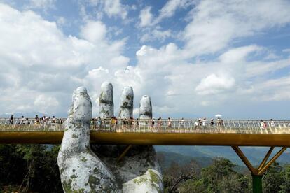
[[[0,143],[60,144],[62,131],[3,131]],[[289,134],[182,134],[90,132],[91,143],[115,145],[223,145],[289,147]]]

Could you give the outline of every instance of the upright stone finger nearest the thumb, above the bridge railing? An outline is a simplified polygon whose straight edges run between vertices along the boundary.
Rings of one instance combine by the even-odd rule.
[[[113,85],[109,82],[104,82],[101,86],[99,116],[102,119],[113,117]]]

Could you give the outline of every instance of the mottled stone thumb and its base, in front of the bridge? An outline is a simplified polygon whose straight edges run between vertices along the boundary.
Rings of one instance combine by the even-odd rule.
[[[113,173],[90,149],[92,103],[87,90],[78,87],[72,101],[57,157],[64,192],[118,192]]]

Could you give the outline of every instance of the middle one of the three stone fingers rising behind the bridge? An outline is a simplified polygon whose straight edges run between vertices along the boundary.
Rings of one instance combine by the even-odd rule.
[[[132,87],[124,87],[120,97],[119,118],[129,119],[130,117],[133,117],[133,101],[134,93]]]

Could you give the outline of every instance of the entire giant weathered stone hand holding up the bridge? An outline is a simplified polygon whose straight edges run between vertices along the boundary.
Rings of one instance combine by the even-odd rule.
[[[113,116],[111,83],[102,84],[99,99],[99,116],[102,118]],[[120,118],[132,117],[133,99],[132,87],[125,87],[120,99]],[[141,110],[144,108],[146,112]],[[79,113],[79,111],[87,113]],[[73,94],[73,107],[66,121],[66,131],[58,157],[64,192],[74,192],[75,190],[83,190],[83,192],[163,192],[162,175],[156,152],[152,146],[132,145],[120,162],[117,162],[117,159],[127,148],[125,145],[92,145],[93,152],[99,158],[90,150],[88,123],[91,111],[90,98],[85,88],[78,88]],[[146,115],[144,118],[152,116],[149,96],[143,97],[140,101],[140,117],[141,115]],[[82,136],[83,133],[87,134],[88,137],[85,140],[88,141],[83,140],[83,137],[74,138],[80,134]],[[74,146],[76,150],[74,150]],[[79,148],[77,148],[78,146]],[[85,148],[81,148],[83,146]],[[85,158],[83,159],[83,157]],[[90,159],[89,162],[88,159]],[[86,161],[83,162],[84,160]]]

